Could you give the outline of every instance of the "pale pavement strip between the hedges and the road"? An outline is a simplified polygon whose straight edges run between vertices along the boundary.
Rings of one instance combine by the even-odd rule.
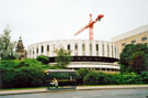
[[[137,89],[137,88],[139,88],[139,89],[140,88],[148,88],[148,85],[78,86],[77,89],[72,89],[72,90]],[[18,89],[18,90],[0,90],[0,96],[23,95],[23,94],[38,94],[38,92],[52,92],[52,91],[65,91],[65,90],[64,89],[62,90],[46,90],[46,88]]]

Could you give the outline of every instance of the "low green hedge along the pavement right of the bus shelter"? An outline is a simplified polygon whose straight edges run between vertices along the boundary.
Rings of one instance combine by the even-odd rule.
[[[79,73],[81,72],[83,70],[79,70]],[[77,74],[77,77],[79,77],[79,74]],[[79,78],[77,78],[77,81],[79,83]],[[96,70],[89,70],[83,76],[84,85],[147,84],[147,81],[148,73],[146,72],[144,72],[141,75],[138,75],[136,73],[105,74]]]

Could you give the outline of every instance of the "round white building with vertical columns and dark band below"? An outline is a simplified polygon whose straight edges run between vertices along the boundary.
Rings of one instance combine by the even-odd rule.
[[[59,40],[46,41],[32,44],[27,47],[27,57],[36,58],[38,55],[46,55],[50,64],[55,63],[56,48],[71,51],[72,61],[68,68],[91,68],[109,73],[119,70],[117,65],[118,47],[111,42],[90,40]]]

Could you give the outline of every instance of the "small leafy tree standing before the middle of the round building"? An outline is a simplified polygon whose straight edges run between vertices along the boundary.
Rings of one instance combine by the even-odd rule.
[[[66,68],[67,65],[72,59],[72,57],[70,56],[71,51],[66,51],[64,48],[60,48],[60,50],[56,50],[55,53],[57,53],[57,57],[55,58],[57,66],[61,68]]]

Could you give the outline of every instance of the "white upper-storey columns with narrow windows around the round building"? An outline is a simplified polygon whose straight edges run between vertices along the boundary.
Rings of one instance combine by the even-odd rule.
[[[68,47],[69,45],[69,47]],[[29,46],[27,57],[36,58],[38,55],[56,56],[55,50],[70,50],[71,56],[105,56],[118,58],[117,45],[100,41],[53,41]],[[47,50],[48,48],[48,50]]]

